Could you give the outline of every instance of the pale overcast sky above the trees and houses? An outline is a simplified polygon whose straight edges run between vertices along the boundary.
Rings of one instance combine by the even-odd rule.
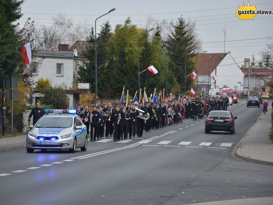
[[[196,31],[203,42],[203,50],[207,52],[224,51],[223,42],[213,42],[224,40],[225,27],[225,51],[231,51],[238,64],[242,64],[244,57],[251,58],[254,54],[259,58],[257,54],[267,43],[273,42],[273,38],[265,39],[273,37],[273,15],[256,16],[253,21],[238,19],[235,12],[242,3],[243,1],[236,0],[25,0],[22,8],[24,16],[20,23],[30,17],[37,25],[51,26],[52,18],[61,13],[72,18],[73,24],[91,27],[97,17],[116,8],[114,12],[99,19],[97,27],[109,20],[114,29],[116,24],[122,24],[130,17],[133,24],[146,28],[149,18],[159,22],[163,20],[175,22],[183,15],[187,20],[196,22]],[[255,4],[257,9],[273,11],[273,1],[252,0],[250,4]],[[153,28],[156,25],[148,27]],[[255,40],[234,41],[243,39]]]

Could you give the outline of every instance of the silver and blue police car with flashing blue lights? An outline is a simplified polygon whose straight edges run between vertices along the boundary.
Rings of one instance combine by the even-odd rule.
[[[26,136],[26,150],[87,150],[86,126],[76,110],[44,110],[43,115]]]

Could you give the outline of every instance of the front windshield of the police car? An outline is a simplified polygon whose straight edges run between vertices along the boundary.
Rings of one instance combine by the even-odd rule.
[[[35,127],[68,128],[72,126],[72,117],[42,117]]]

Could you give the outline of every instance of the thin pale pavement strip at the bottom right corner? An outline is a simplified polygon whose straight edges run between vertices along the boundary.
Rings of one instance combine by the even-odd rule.
[[[244,199],[235,199],[235,200],[224,200],[224,201],[211,201],[204,203],[194,203],[198,205],[272,205],[273,197],[264,197],[264,198],[244,198]],[[193,204],[193,203],[191,203]]]

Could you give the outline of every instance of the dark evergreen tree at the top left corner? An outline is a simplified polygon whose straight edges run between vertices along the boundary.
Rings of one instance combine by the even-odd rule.
[[[16,67],[22,63],[19,53],[19,41],[15,25],[12,23],[20,19],[23,1],[0,0],[0,78],[7,78],[14,74]]]

